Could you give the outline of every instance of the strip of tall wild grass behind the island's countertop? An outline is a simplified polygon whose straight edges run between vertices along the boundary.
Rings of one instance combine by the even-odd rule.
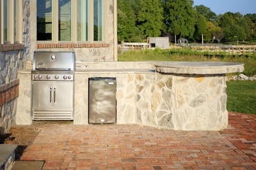
[[[119,61],[142,61],[142,60],[166,60],[166,61],[225,61],[241,62],[244,64],[243,73],[246,76],[256,74],[256,53],[248,53],[246,56],[227,55],[223,52],[201,52],[190,48],[171,48],[154,50],[128,50],[118,53]]]

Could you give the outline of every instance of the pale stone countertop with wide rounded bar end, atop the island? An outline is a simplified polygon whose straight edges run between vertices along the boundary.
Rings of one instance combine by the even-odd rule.
[[[29,67],[19,73],[31,73]],[[144,61],[144,62],[77,62],[75,73],[173,73],[173,74],[228,74],[241,73],[244,64],[237,62],[182,62],[182,61]]]

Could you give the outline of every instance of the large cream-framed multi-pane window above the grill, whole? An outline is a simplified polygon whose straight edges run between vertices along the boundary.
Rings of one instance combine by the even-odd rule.
[[[105,41],[105,1],[37,0],[37,41]]]

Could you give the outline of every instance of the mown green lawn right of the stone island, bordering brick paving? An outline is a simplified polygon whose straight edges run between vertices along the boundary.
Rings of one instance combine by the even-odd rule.
[[[227,110],[256,115],[256,81],[227,81]]]

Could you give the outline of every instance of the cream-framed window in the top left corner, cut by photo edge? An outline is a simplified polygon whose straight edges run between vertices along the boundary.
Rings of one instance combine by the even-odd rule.
[[[19,0],[0,0],[0,44],[20,43],[21,6]]]

